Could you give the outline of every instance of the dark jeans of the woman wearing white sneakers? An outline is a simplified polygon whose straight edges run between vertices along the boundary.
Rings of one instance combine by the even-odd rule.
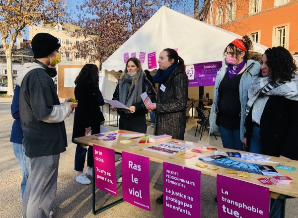
[[[88,153],[87,153],[88,152]],[[76,145],[75,155],[74,155],[74,170],[81,172],[84,169],[85,159],[87,153],[87,166],[93,166],[93,146],[89,146],[88,151],[87,148],[83,148],[80,145]]]

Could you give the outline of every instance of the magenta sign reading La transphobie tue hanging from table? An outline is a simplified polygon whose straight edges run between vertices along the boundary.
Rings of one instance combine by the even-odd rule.
[[[268,218],[269,188],[217,175],[219,218]]]

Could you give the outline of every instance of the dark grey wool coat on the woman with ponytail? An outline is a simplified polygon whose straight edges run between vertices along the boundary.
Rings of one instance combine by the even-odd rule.
[[[154,135],[166,134],[173,139],[184,140],[188,80],[177,67],[163,85],[164,92],[158,84]]]

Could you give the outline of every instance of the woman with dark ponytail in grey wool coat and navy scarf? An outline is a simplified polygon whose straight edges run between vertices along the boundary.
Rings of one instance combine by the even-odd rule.
[[[167,48],[160,53],[158,65],[153,76],[153,82],[158,83],[157,101],[147,105],[149,112],[155,110],[154,135],[166,134],[184,140],[188,95],[184,61],[174,49]],[[163,203],[163,194],[156,203]]]

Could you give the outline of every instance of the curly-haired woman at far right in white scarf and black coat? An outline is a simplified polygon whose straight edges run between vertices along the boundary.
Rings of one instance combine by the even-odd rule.
[[[249,151],[298,160],[298,75],[291,53],[273,47],[262,57],[262,75],[251,82],[246,106],[246,138]],[[251,152],[252,152],[251,151]],[[275,206],[273,207],[273,204]],[[281,217],[279,199],[271,210]]]

